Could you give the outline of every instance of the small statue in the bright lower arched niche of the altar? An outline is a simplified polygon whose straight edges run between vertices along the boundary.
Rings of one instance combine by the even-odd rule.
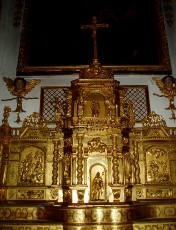
[[[92,182],[92,200],[100,200],[103,194],[103,179],[97,172]]]

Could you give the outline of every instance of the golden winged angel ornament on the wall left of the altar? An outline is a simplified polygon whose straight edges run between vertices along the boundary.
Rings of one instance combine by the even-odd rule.
[[[11,78],[3,77],[4,82],[6,83],[8,91],[15,98],[5,99],[2,101],[10,101],[17,99],[17,107],[13,112],[17,112],[18,118],[16,120],[17,123],[20,122],[19,113],[25,112],[22,108],[22,100],[29,100],[29,99],[37,99],[36,97],[32,98],[25,98],[25,96],[37,85],[40,83],[40,80],[32,79],[30,81],[26,81],[24,78],[17,77],[14,80]]]

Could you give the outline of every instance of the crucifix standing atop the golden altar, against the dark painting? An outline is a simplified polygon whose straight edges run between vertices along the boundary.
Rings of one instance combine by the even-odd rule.
[[[93,38],[93,45],[94,45],[94,60],[98,59],[98,53],[97,53],[97,29],[102,28],[102,27],[108,27],[108,24],[102,23],[102,24],[97,24],[97,19],[94,16],[92,20],[92,24],[90,25],[83,25],[81,26],[81,29],[90,29],[92,30],[92,38]]]

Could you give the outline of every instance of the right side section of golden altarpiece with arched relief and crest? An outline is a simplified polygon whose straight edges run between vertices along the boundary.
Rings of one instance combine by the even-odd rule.
[[[152,112],[143,121],[142,137],[138,137],[142,187],[136,190],[137,199],[172,199],[176,194],[175,136],[168,131],[165,121]]]

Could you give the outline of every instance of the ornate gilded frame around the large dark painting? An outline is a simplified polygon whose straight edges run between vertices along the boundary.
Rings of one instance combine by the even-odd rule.
[[[152,0],[153,1],[153,0]],[[25,1],[24,15],[23,15],[23,25],[21,31],[21,41],[19,48],[19,57],[17,65],[17,75],[52,75],[52,74],[70,74],[79,72],[82,68],[87,68],[90,63],[78,64],[78,65],[30,65],[30,49],[29,44],[31,43],[29,38],[29,0]],[[148,2],[148,1],[147,1]],[[147,3],[146,3],[147,4]],[[164,26],[164,17],[162,14],[161,2],[160,0],[155,0],[155,28],[156,28],[156,46],[158,52],[158,63],[157,64],[103,64],[104,67],[111,68],[115,73],[144,73],[144,74],[171,74],[171,64],[169,57],[169,50],[167,44],[167,36]],[[151,15],[149,14],[149,17]],[[93,55],[92,55],[93,59]]]

